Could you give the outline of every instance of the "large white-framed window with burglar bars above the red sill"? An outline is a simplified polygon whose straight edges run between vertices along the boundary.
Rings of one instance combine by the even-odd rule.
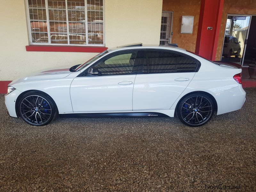
[[[28,0],[31,44],[103,45],[103,0]]]

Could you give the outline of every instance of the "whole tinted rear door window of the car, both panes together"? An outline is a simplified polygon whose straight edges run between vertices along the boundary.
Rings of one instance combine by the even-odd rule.
[[[197,62],[175,52],[146,51],[143,74],[196,72]]]

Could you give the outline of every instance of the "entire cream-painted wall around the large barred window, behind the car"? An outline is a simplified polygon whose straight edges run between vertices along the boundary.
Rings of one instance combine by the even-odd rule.
[[[44,68],[83,63],[98,53],[27,52],[26,0],[1,0],[0,81]],[[106,47],[159,44],[162,0],[105,0]],[[15,13],[15,14],[14,14]]]

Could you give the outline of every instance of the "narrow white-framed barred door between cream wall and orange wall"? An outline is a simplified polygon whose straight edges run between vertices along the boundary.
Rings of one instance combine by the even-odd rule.
[[[172,15],[173,12],[162,12],[160,45],[166,45],[172,42]]]

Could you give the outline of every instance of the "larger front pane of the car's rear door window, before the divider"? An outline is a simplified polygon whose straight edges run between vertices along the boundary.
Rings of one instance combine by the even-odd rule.
[[[142,73],[174,73],[176,58],[172,52],[146,51]]]

